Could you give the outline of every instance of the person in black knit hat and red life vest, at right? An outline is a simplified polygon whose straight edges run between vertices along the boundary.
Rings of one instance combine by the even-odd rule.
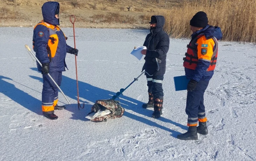
[[[190,79],[187,86],[188,132],[177,136],[181,140],[196,140],[197,133],[207,135],[204,92],[213,77],[218,57],[218,40],[222,38],[219,27],[208,25],[207,14],[197,12],[190,20],[193,34],[183,58],[185,74]],[[197,121],[199,126],[197,127]]]

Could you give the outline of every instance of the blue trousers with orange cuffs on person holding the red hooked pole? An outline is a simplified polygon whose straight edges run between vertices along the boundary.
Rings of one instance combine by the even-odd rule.
[[[60,86],[62,72],[50,72],[50,76]],[[58,102],[58,87],[48,75],[43,74],[42,111],[43,114],[54,113],[54,106]]]

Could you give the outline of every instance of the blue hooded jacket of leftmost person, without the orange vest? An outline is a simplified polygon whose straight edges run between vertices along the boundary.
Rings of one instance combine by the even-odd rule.
[[[45,2],[42,6],[43,21],[58,28],[57,25],[60,24],[59,20],[55,18],[55,11],[59,13],[59,9],[60,5],[58,2]],[[55,32],[58,35],[59,42],[56,54],[52,58],[52,62],[50,62],[49,72],[65,71],[65,67],[67,68],[65,62],[66,53],[71,48],[67,45],[66,37],[63,34],[62,30],[58,28],[58,30],[55,30]],[[49,36],[49,30],[46,26],[37,25],[35,27],[33,34],[34,51],[36,52],[36,57],[42,64],[49,63],[49,57],[47,53]],[[41,66],[39,64],[37,64],[37,66],[38,70],[41,71]]]

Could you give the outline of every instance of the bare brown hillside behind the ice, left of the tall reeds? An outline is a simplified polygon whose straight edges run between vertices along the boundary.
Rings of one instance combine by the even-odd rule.
[[[77,18],[77,27],[148,28],[150,15],[164,12],[178,1],[169,0],[57,0],[61,27],[71,27],[69,16]],[[1,0],[1,26],[34,26],[42,20],[45,0]],[[130,11],[129,11],[130,9]]]

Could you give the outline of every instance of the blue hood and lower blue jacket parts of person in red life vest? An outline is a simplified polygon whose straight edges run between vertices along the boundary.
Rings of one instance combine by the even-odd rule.
[[[206,36],[207,39],[212,38],[213,36],[216,37],[217,40],[221,40],[222,38],[221,28],[207,25],[203,29],[193,33],[191,35],[191,41],[202,33],[204,34],[204,36]],[[193,79],[196,82],[199,82],[200,80],[209,81],[214,74],[214,70],[206,71],[209,66],[209,61],[199,59],[195,70],[185,68],[186,76],[187,78]]]

